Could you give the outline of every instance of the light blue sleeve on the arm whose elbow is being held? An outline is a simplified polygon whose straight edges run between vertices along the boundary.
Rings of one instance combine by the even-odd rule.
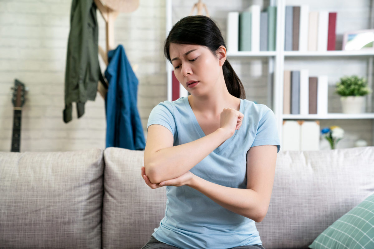
[[[175,134],[175,121],[173,107],[168,102],[161,102],[155,106],[148,117],[147,129],[150,125],[159,124],[168,128],[171,133]]]

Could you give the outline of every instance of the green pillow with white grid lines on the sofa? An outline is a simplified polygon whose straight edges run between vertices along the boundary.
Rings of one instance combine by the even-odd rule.
[[[374,194],[326,228],[309,246],[312,249],[374,248]]]

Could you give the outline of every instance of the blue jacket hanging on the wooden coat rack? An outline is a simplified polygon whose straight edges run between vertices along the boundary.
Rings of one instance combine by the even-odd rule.
[[[105,70],[109,83],[105,98],[106,147],[144,150],[144,132],[137,109],[138,79],[122,45],[108,52],[108,61]]]

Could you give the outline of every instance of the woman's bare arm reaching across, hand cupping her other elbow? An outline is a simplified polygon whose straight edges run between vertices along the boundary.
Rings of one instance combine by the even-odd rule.
[[[273,189],[277,146],[254,146],[247,153],[247,188],[236,189],[211,183],[190,171],[180,177],[163,181],[160,184],[150,184],[147,176],[142,175],[148,186],[190,186],[205,194],[214,202],[232,212],[248,217],[255,222],[264,219],[269,208]]]

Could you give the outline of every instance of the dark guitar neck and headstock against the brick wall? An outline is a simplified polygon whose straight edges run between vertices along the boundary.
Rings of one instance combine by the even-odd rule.
[[[21,81],[15,79],[12,103],[14,107],[13,113],[13,133],[12,133],[12,149],[11,152],[19,152],[21,143],[21,117],[22,106],[25,103],[25,85]]]

